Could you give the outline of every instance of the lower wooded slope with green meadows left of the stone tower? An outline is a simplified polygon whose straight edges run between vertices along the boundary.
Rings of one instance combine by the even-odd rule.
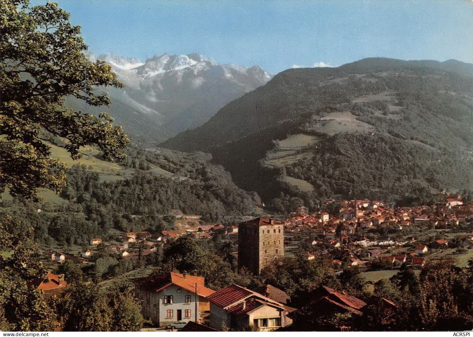
[[[223,167],[209,164],[208,154],[137,147],[127,152],[121,171],[101,172],[101,164],[110,163],[88,156],[83,163],[90,165],[67,169],[60,197],[43,192],[43,201],[33,203],[4,195],[0,208],[25,228],[34,227],[36,242],[79,246],[95,236],[113,238],[114,229],[173,229],[170,213],[197,214],[206,221],[254,214],[257,195],[252,199],[236,187]]]

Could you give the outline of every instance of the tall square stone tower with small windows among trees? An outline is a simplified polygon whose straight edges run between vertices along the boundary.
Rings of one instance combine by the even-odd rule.
[[[284,223],[259,217],[238,225],[238,268],[259,275],[284,256]]]

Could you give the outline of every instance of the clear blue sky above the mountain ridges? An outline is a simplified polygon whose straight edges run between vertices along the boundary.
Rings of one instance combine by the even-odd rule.
[[[54,2],[90,51],[142,60],[198,52],[272,73],[377,56],[473,63],[472,0]]]

